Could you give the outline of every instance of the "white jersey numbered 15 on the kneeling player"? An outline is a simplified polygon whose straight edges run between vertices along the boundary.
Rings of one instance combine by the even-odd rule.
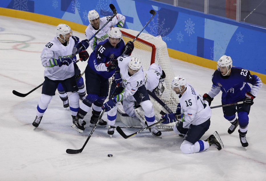
[[[211,117],[211,108],[207,101],[203,101],[194,88],[187,84],[187,90],[179,98],[181,114],[183,114],[183,127],[189,128],[191,124],[199,125]]]

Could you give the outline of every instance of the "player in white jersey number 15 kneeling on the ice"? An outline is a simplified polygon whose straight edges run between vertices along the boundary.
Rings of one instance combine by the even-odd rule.
[[[174,126],[174,132],[185,137],[180,146],[180,150],[185,153],[196,153],[209,149],[214,146],[218,150],[223,148],[223,143],[215,131],[213,135],[206,140],[200,140],[204,133],[209,129],[211,108],[207,101],[196,90],[187,84],[183,76],[177,76],[172,80],[172,90],[179,94],[179,103],[176,113],[162,116],[165,119],[164,124],[177,121],[177,115],[181,115],[181,121]]]

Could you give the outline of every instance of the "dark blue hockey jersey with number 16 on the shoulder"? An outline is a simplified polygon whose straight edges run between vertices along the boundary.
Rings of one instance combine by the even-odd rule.
[[[109,40],[106,39],[98,44],[94,51],[90,54],[88,59],[88,66],[100,74],[102,77],[108,79],[113,76],[115,69],[107,72],[105,63],[110,62],[113,59],[117,59],[123,53],[125,43],[121,40],[116,47],[113,47]]]

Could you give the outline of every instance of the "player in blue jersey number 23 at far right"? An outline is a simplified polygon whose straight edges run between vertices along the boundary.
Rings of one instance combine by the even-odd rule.
[[[223,55],[218,60],[217,70],[212,76],[212,88],[203,95],[203,99],[211,105],[213,97],[222,91],[222,104],[244,101],[243,104],[223,107],[223,116],[231,123],[228,129],[229,134],[232,134],[239,125],[238,132],[241,145],[247,147],[249,145],[246,140],[248,114],[250,106],[253,105],[253,99],[262,87],[262,82],[258,76],[251,75],[248,70],[232,67],[232,64],[230,56]],[[252,88],[247,83],[252,84]]]

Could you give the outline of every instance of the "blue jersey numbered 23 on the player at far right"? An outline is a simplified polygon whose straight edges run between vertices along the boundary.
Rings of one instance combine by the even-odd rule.
[[[212,76],[212,88],[209,91],[210,97],[215,97],[222,91],[222,103],[229,104],[241,101],[245,93],[250,91],[256,96],[262,86],[261,79],[256,75],[251,75],[248,70],[240,67],[232,67],[230,76],[223,76],[221,72],[215,70]],[[252,84],[252,88],[247,84]]]

